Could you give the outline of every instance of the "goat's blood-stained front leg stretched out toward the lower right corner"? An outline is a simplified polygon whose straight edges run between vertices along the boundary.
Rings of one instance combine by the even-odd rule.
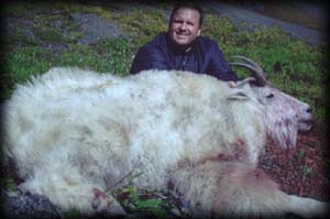
[[[290,196],[277,188],[262,171],[243,163],[208,161],[179,166],[173,177],[175,189],[199,217],[260,217],[296,213],[324,215],[327,205]]]

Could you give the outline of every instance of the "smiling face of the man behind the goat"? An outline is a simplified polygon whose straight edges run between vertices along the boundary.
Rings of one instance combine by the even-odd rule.
[[[178,45],[189,45],[199,34],[199,12],[182,8],[173,14],[169,23],[169,37]]]

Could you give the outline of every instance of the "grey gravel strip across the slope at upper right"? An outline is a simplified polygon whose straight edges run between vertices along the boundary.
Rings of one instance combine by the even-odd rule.
[[[208,1],[207,7],[222,17],[228,17],[235,28],[241,31],[253,31],[262,26],[279,26],[284,32],[292,37],[305,41],[312,45],[320,45],[324,42],[324,34],[309,28],[292,24],[273,18],[264,17],[246,7],[238,7],[228,3],[219,3],[216,1]],[[305,10],[308,10],[305,6]],[[316,8],[312,8],[316,13]]]

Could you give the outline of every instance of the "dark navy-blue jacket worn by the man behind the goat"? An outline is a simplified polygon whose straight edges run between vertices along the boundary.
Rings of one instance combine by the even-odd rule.
[[[238,80],[215,41],[198,36],[190,47],[186,51],[174,46],[167,34],[161,33],[138,51],[131,74],[145,69],[176,69],[208,74],[221,80]]]

